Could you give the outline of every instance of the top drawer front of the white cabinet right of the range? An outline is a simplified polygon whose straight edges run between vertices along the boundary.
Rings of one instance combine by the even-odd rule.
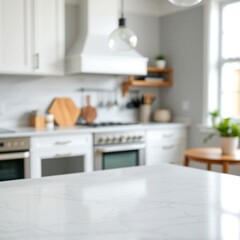
[[[186,138],[185,129],[147,131],[147,142],[170,141],[181,138]]]

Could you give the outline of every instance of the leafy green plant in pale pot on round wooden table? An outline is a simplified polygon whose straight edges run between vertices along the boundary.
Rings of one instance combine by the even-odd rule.
[[[240,137],[240,124],[233,123],[230,118],[222,119],[218,124],[213,127],[214,133],[209,134],[204,142],[207,142],[215,135],[220,135],[220,146],[222,154],[235,154]]]

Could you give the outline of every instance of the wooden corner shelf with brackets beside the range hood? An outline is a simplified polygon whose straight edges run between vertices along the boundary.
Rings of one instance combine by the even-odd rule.
[[[149,67],[148,73],[156,73],[156,74],[165,74],[165,80],[164,81],[149,81],[149,80],[137,80],[135,79],[135,76],[130,76],[128,81],[122,83],[122,95],[125,96],[127,92],[130,90],[132,86],[138,86],[138,87],[167,87],[173,85],[172,80],[172,69],[171,68],[154,68]]]

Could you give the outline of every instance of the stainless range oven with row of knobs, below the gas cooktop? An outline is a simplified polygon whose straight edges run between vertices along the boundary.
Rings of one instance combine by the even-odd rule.
[[[106,132],[94,135],[94,170],[144,164],[144,131]]]

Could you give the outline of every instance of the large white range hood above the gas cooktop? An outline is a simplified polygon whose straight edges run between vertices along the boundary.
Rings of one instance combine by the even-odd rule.
[[[148,59],[136,50],[108,48],[118,18],[118,0],[79,0],[78,38],[67,53],[66,73],[146,75]]]

